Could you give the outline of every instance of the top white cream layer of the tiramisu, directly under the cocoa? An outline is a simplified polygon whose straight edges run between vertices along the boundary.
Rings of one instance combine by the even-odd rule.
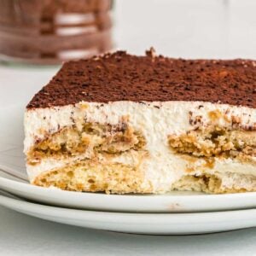
[[[153,150],[155,143],[166,146],[169,143],[166,137],[186,133],[204,136],[202,131],[210,134],[214,129],[241,131],[250,137],[256,131],[256,109],[210,102],[79,102],[64,107],[28,109],[25,152],[61,131],[83,132],[86,125],[92,124],[105,126],[107,130],[123,124],[146,137],[148,147]]]

